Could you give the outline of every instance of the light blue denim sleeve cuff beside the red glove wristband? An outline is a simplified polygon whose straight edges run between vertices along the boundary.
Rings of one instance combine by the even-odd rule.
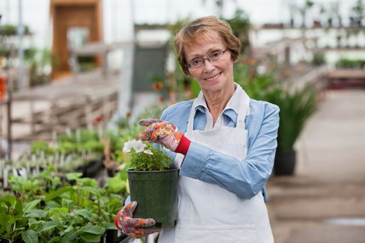
[[[199,179],[206,162],[209,161],[210,153],[210,149],[206,146],[191,141],[188,153],[181,163],[180,176]]]

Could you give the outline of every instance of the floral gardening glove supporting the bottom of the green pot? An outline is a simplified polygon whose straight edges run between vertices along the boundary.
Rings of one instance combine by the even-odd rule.
[[[136,209],[137,202],[128,203],[115,217],[115,226],[123,231],[124,234],[133,238],[145,237],[149,234],[160,232],[159,228],[143,228],[153,226],[154,219],[133,219],[133,211]]]

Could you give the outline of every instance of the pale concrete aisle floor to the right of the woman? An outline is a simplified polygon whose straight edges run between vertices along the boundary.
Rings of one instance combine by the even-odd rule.
[[[273,176],[276,243],[365,242],[365,90],[330,90],[295,147],[295,176]]]

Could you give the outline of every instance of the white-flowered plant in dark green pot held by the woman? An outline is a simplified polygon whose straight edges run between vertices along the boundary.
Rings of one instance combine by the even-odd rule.
[[[154,219],[152,228],[175,225],[179,170],[170,167],[170,157],[140,140],[125,142],[123,151],[131,157],[127,170],[131,201],[138,203],[133,217]]]

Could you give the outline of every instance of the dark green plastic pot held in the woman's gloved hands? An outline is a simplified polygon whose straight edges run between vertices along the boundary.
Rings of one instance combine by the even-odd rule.
[[[177,179],[179,169],[133,171],[128,169],[131,201],[138,205],[133,217],[156,221],[149,228],[173,226],[177,221]]]

